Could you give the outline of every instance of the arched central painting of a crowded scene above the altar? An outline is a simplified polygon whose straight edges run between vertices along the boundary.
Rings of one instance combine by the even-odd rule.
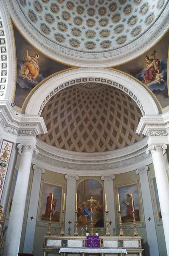
[[[104,227],[103,188],[99,181],[93,179],[82,180],[77,186],[78,227],[89,229],[91,205],[88,200],[91,196],[96,200],[92,204],[94,227]]]

